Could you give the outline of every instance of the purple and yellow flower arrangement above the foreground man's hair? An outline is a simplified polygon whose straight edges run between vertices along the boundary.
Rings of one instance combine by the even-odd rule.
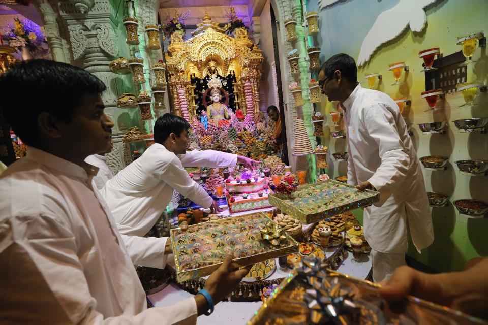
[[[18,52],[26,47],[32,54],[48,53],[46,39],[37,25],[31,21],[22,22],[19,18],[15,18],[14,21],[15,26],[9,24],[10,31],[7,32],[12,47]]]

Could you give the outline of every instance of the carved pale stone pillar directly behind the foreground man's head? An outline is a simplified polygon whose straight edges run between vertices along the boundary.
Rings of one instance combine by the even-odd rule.
[[[68,30],[74,63],[97,76],[107,86],[102,99],[105,112],[114,121],[113,150],[108,154],[108,165],[116,173],[130,163],[130,153],[121,142],[127,131],[126,110],[116,107],[123,84],[118,75],[110,72],[109,63],[118,54],[118,44],[124,36],[117,35],[115,25],[119,18],[107,0],[64,0],[58,3],[60,17]]]

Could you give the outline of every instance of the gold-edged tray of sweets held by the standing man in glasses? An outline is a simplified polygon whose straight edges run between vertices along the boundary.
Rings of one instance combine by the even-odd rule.
[[[309,224],[348,210],[372,205],[379,198],[379,192],[358,190],[354,186],[329,179],[300,186],[291,194],[271,194],[269,203],[283,213]]]

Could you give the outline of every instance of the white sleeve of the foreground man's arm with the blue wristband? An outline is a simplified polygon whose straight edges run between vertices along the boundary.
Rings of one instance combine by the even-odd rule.
[[[188,298],[169,307],[104,317],[96,311],[70,225],[46,215],[0,222],[0,319],[31,324],[195,324]],[[15,272],[12,272],[15,270]]]

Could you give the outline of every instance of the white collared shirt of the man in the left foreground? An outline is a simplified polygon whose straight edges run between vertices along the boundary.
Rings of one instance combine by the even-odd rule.
[[[131,260],[106,205],[92,189],[96,172],[93,166],[85,170],[29,147],[27,156],[0,176],[0,319],[19,324],[196,323],[194,298],[146,309],[133,266],[141,261]],[[138,244],[145,240],[134,239],[140,239]]]

